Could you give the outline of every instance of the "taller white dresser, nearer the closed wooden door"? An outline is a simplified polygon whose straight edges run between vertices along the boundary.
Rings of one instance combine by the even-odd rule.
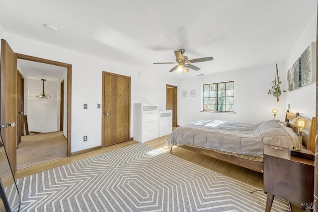
[[[159,138],[159,105],[133,104],[134,140],[146,142]]]

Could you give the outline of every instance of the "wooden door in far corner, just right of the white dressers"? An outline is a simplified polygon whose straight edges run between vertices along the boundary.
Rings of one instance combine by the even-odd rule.
[[[172,127],[177,127],[177,87],[166,85],[166,110],[172,110]]]

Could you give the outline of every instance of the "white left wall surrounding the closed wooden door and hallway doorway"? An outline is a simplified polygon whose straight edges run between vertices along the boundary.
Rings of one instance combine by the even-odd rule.
[[[131,76],[131,104],[158,103],[160,109],[165,108],[165,85],[179,82],[160,75],[138,75],[142,67],[116,64],[12,34],[5,34],[4,39],[16,53],[72,64],[72,152],[101,145],[102,114],[97,104],[102,99],[102,71]],[[87,109],[83,109],[84,103]],[[131,137],[132,132],[131,125]],[[88,141],[84,142],[83,136]]]

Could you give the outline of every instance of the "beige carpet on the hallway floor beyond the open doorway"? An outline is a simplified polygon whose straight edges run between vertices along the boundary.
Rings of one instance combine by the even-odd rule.
[[[17,170],[67,156],[63,133],[40,133],[21,137],[16,151]]]

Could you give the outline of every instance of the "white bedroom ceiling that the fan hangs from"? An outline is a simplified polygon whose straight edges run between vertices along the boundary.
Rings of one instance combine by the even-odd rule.
[[[7,33],[63,47],[133,71],[193,77],[283,62],[317,0],[0,0]],[[52,24],[58,31],[44,27]],[[174,50],[200,71],[168,72]]]

